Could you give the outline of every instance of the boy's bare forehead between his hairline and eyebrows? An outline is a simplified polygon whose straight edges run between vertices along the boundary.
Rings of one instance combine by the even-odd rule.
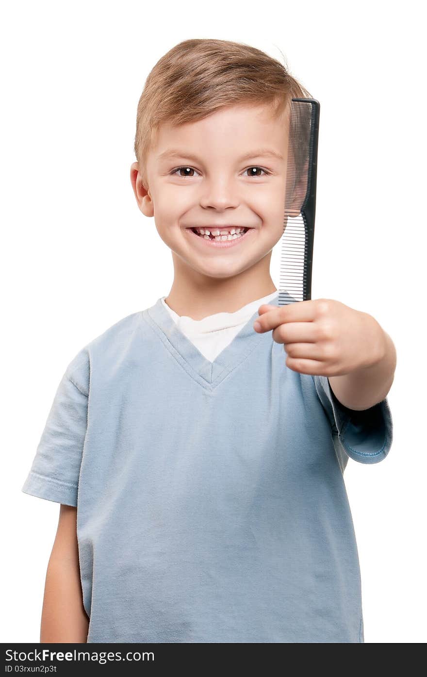
[[[269,106],[227,106],[201,120],[173,125],[163,123],[156,130],[150,151],[155,160],[179,156],[180,150],[197,149],[230,154],[236,150],[271,150],[285,156],[288,141],[288,110],[273,116]]]

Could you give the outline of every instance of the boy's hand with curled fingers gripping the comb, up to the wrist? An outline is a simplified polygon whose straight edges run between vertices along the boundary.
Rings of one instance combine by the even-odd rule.
[[[273,341],[284,344],[286,365],[300,374],[341,376],[377,364],[386,353],[375,318],[340,301],[261,305],[258,313],[259,332],[273,329]]]

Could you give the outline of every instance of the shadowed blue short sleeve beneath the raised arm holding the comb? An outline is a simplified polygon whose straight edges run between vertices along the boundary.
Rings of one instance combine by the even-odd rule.
[[[387,398],[369,409],[349,409],[336,398],[328,376],[312,378],[332,434],[336,436],[334,443],[341,466],[346,464],[344,454],[359,463],[378,463],[386,458],[393,439]]]

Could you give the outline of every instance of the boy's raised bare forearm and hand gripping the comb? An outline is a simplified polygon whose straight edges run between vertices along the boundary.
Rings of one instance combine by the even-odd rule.
[[[369,313],[334,299],[261,305],[254,329],[273,329],[283,343],[286,366],[300,374],[326,376],[336,399],[353,410],[382,402],[395,378],[396,349]]]

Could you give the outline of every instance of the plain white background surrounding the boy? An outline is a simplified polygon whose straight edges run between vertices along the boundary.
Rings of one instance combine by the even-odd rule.
[[[425,642],[425,53],[422,3],[8,3],[1,18],[1,641],[39,642],[59,504],[20,489],[72,357],[167,295],[171,252],[129,172],[137,102],[189,38],[245,42],[321,103],[312,298],[397,347],[394,441],[344,473],[365,642]],[[271,275],[279,286],[279,244]]]

